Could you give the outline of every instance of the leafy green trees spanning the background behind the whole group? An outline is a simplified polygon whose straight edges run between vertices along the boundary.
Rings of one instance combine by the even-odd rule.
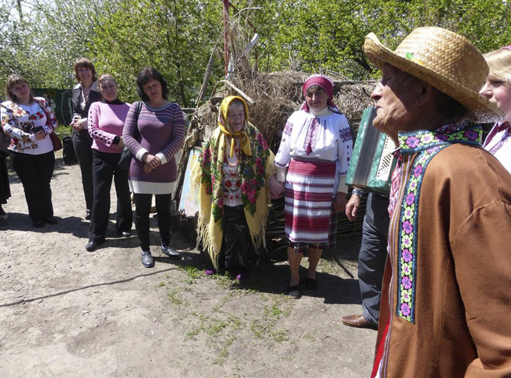
[[[395,48],[418,26],[442,26],[487,52],[511,42],[505,0],[233,0],[239,46],[260,34],[251,64],[259,71],[331,70],[377,75],[362,52],[374,32]],[[154,66],[170,100],[194,106],[212,51],[210,88],[224,73],[220,0],[3,0],[0,84],[12,72],[32,82],[71,87],[72,64],[87,56],[111,73],[120,98],[137,99],[135,78]],[[253,9],[260,8],[260,9]],[[249,26],[250,22],[252,26]],[[206,91],[208,93],[208,91]]]

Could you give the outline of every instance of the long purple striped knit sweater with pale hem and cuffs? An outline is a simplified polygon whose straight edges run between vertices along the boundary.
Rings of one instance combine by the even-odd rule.
[[[153,195],[170,194],[177,179],[177,163],[174,155],[183,147],[185,124],[179,105],[170,103],[159,109],[142,104],[138,123],[135,124],[135,102],[128,111],[123,129],[123,140],[136,159],[129,167],[129,186],[134,193]],[[140,136],[133,138],[135,127]],[[161,165],[149,173],[144,172],[141,161],[145,152],[157,156]]]

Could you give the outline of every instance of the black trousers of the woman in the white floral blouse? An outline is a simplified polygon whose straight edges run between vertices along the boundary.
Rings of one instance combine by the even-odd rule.
[[[10,161],[23,184],[30,219],[44,222],[53,217],[50,182],[55,167],[55,153],[50,151],[31,155],[11,152]]]

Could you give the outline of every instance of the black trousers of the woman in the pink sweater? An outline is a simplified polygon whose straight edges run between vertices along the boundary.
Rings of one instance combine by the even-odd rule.
[[[105,240],[110,213],[111,180],[114,179],[117,195],[117,230],[132,229],[132,203],[129,198],[127,170],[118,167],[120,154],[92,150],[92,181],[94,195],[92,201],[91,224],[89,225],[89,241]]]

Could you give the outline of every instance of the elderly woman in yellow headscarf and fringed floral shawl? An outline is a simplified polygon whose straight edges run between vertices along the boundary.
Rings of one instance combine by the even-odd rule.
[[[265,246],[269,197],[283,194],[274,154],[248,116],[243,98],[224,98],[218,127],[192,172],[199,185],[199,244],[213,263],[205,273],[227,269],[240,282],[249,279]]]

